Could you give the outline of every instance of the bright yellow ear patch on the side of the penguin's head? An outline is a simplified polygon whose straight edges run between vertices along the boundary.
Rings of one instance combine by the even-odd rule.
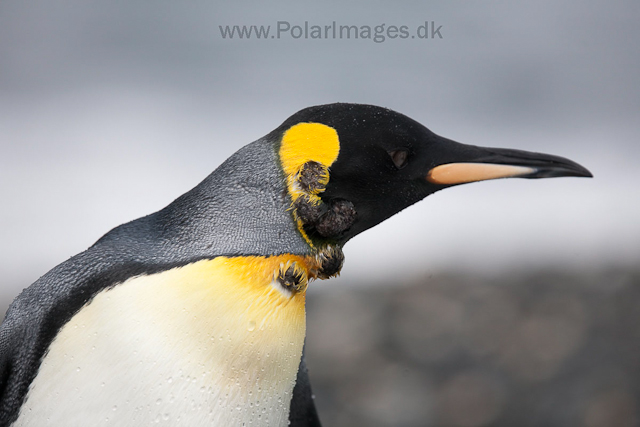
[[[297,184],[296,177],[303,166],[308,162],[316,162],[326,169],[326,178],[322,184],[329,182],[329,167],[336,161],[340,153],[340,140],[338,133],[330,126],[320,123],[298,123],[287,130],[280,144],[280,162],[287,179],[287,190],[292,201],[300,196],[307,196],[313,203],[320,203],[318,193],[324,188],[307,194]],[[303,223],[296,218],[298,230],[309,246],[314,247],[313,242],[303,229]]]

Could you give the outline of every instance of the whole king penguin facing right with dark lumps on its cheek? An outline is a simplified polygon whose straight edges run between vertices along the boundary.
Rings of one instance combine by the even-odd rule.
[[[558,176],[591,174],[381,107],[301,110],[13,301],[0,425],[319,426],[305,294],[340,272],[344,244],[444,188]]]

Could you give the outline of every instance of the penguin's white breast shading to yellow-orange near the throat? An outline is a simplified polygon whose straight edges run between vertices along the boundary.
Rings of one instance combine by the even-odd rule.
[[[293,263],[309,274],[294,255],[218,257],[97,294],[50,345],[15,425],[287,425],[306,288],[277,277]]]

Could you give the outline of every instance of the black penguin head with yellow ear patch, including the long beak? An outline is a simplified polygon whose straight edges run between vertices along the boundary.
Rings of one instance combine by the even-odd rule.
[[[309,107],[276,132],[296,219],[314,242],[344,244],[455,185],[496,178],[592,176],[558,156],[460,144],[372,105]]]

